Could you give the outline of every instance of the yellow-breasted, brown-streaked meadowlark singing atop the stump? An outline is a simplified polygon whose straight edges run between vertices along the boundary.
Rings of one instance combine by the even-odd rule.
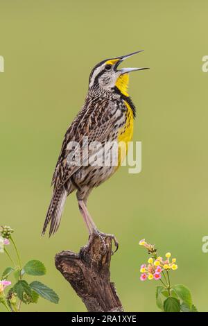
[[[45,234],[49,224],[49,237],[58,230],[67,196],[76,191],[78,207],[87,225],[89,236],[93,233],[103,237],[109,236],[114,240],[117,250],[119,243],[116,237],[100,232],[96,227],[87,210],[87,199],[92,189],[101,185],[117,171],[128,151],[128,141],[132,139],[136,117],[135,105],[128,94],[129,74],[148,68],[119,69],[119,65],[123,60],[141,51],[108,58],[92,69],[83,108],[64,135],[51,182],[53,196],[46,213],[42,235]],[[99,144],[98,149],[91,146],[94,142]],[[117,146],[116,164],[112,164],[112,161],[108,165],[90,164],[89,159],[96,155],[101,157],[102,155],[99,155],[101,149],[109,143],[121,143],[126,146],[124,150],[122,146]],[[108,148],[107,155],[111,153],[110,151],[112,146]],[[77,160],[78,153],[82,156],[82,162]]]

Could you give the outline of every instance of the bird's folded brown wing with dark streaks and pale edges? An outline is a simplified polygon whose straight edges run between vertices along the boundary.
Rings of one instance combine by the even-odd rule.
[[[89,108],[83,108],[83,110],[88,109],[87,112],[89,114],[86,114],[86,112],[83,114],[83,110],[80,111],[76,119],[71,123],[71,126],[69,126],[53,174],[52,184],[55,184],[55,189],[65,185],[71,175],[81,167],[69,166],[69,164],[67,164],[67,155],[70,153],[69,150],[67,150],[67,144],[69,144],[69,141],[78,141],[81,147],[83,144],[83,136],[88,137],[88,143],[90,143],[90,141],[103,142],[107,139],[110,132],[112,132],[114,123],[116,122],[116,116],[112,112],[116,111],[116,103],[105,100],[105,103],[102,104],[103,105],[100,103],[98,108],[96,108],[97,105],[94,105],[93,110],[91,106],[89,106]],[[79,147],[77,150],[78,149]],[[73,150],[73,153],[76,155],[76,149]],[[93,155],[94,153],[89,153],[89,155],[90,154]],[[80,155],[82,157],[82,151],[80,152]],[[83,160],[85,160],[85,157],[83,157]]]

